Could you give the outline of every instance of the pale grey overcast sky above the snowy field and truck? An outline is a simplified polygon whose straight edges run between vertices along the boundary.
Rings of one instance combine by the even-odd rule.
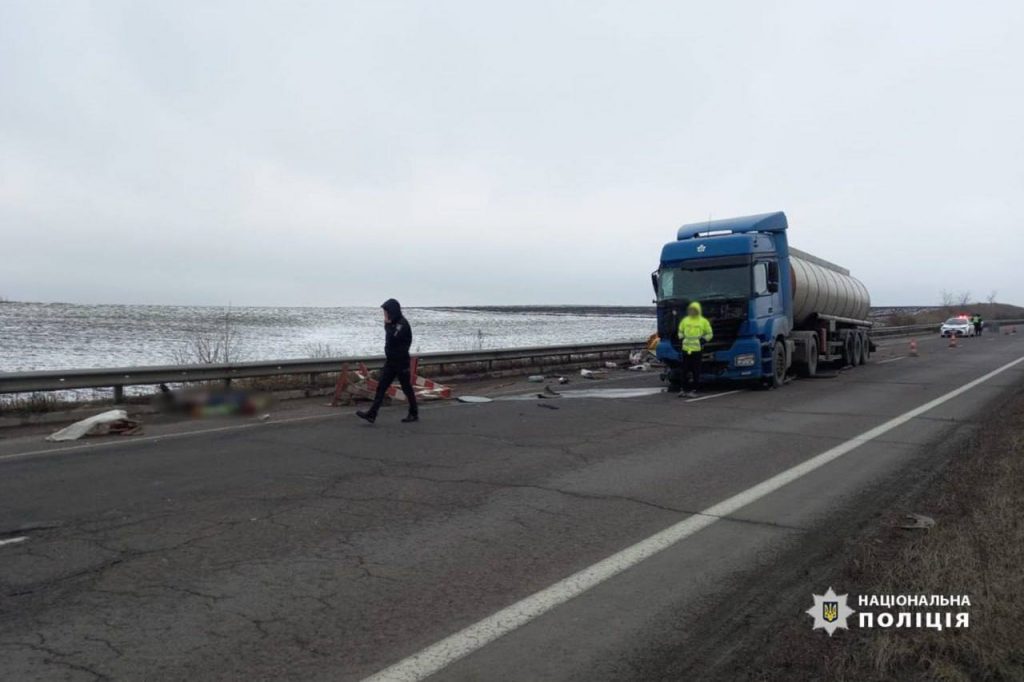
[[[1024,304],[1024,3],[0,0],[0,296],[645,304],[771,210]]]

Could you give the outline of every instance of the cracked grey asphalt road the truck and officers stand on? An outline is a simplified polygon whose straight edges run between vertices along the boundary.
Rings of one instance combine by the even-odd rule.
[[[0,679],[357,680],[399,662],[410,679],[657,679],[667,659],[699,676],[730,647],[717,621],[741,610],[738,585],[852,531],[877,513],[872,491],[934,466],[1024,381],[1022,363],[893,423],[1024,356],[1024,335],[905,346],[699,401],[447,403],[415,425],[398,409],[373,427],[346,412],[70,450],[2,440]],[[755,487],[822,453],[839,455]],[[682,536],[645,555],[667,528]],[[566,596],[564,579],[613,555],[626,563]]]

